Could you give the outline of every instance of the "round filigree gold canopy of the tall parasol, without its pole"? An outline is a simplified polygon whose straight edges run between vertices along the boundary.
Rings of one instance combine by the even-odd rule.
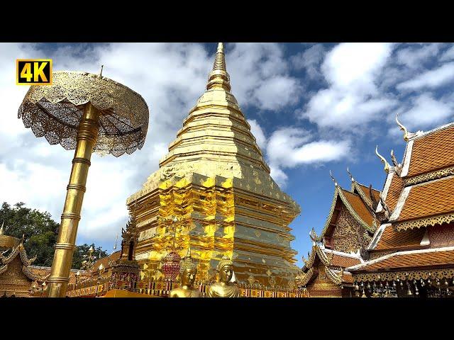
[[[92,103],[101,113],[94,152],[118,157],[143,147],[148,106],[140,94],[101,74],[60,71],[52,79],[51,86],[31,86],[18,110],[36,137],[75,149],[84,107]]]

